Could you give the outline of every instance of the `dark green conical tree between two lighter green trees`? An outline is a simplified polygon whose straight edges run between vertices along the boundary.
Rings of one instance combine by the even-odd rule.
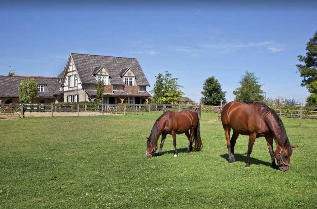
[[[203,84],[203,90],[201,94],[201,103],[204,105],[220,105],[221,101],[225,105],[227,103],[225,95],[226,91],[222,91],[221,85],[218,82],[218,79],[215,79],[214,76],[209,77],[205,80]]]

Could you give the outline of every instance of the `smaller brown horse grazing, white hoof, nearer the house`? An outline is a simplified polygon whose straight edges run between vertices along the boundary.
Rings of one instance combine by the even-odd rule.
[[[190,131],[190,132],[189,132]],[[200,125],[199,118],[196,112],[193,111],[181,111],[173,112],[166,111],[163,113],[154,123],[150,136],[147,138],[147,151],[146,156],[152,157],[158,148],[158,139],[162,134],[161,145],[159,148],[159,154],[162,153],[162,147],[167,134],[171,134],[173,138],[173,145],[175,148],[175,155],[177,157],[176,149],[176,134],[182,134],[188,138],[187,153],[193,150],[192,142],[195,141],[194,149],[203,148],[203,144],[200,138]],[[194,138],[193,138],[194,137]]]

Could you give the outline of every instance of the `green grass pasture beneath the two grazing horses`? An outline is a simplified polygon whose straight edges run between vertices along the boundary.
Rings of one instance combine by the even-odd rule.
[[[229,165],[216,114],[202,113],[202,151],[171,135],[160,157],[146,137],[161,113],[138,116],[0,120],[0,208],[315,208],[317,121],[282,118],[294,149],[288,172],[270,167],[258,138],[245,168],[248,137]],[[160,140],[160,139],[159,139]],[[274,144],[275,147],[275,144]]]

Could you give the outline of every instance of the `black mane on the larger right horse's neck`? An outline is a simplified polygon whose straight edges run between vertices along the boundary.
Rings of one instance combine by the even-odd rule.
[[[271,115],[275,118],[275,120],[276,120],[277,123],[278,123],[279,130],[281,131],[281,133],[280,133],[280,134],[281,134],[281,137],[280,137],[280,139],[281,139],[281,141],[280,141],[281,145],[283,145],[283,144],[285,143],[285,141],[288,141],[288,144],[290,145],[289,140],[288,140],[288,137],[287,137],[287,134],[286,134],[286,130],[285,130],[284,124],[283,124],[281,118],[276,114],[276,112],[275,112],[273,109],[269,108],[267,105],[265,105],[265,104],[262,103],[262,102],[255,102],[255,103],[253,103],[253,105],[256,106],[256,107],[258,107],[257,111],[259,111],[260,109],[262,109],[262,111],[260,112],[260,114],[262,114],[262,115],[264,115],[264,116],[266,116],[266,115],[268,115],[268,114],[271,114]],[[271,124],[271,123],[267,123],[267,125],[268,125],[268,127],[270,127],[270,128],[272,127],[272,124]]]

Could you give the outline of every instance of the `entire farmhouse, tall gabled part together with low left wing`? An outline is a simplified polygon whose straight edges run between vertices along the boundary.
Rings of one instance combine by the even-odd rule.
[[[64,71],[55,77],[0,76],[0,103],[19,103],[21,80],[34,78],[39,98],[32,103],[94,101],[97,83],[104,82],[104,104],[143,104],[150,86],[136,58],[70,53]]]

